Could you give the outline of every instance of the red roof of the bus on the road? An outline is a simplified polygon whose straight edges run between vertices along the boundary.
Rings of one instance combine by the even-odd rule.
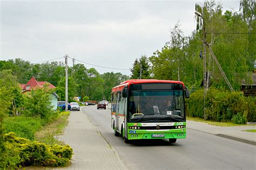
[[[120,83],[116,87],[113,87],[112,92],[121,91],[125,86],[130,86],[130,84],[140,84],[140,83],[177,83],[177,84],[182,84],[183,88],[185,88],[184,83],[182,81],[156,80],[156,79],[131,79],[131,80],[126,80]]]

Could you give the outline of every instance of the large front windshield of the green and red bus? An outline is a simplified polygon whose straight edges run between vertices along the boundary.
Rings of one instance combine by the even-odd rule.
[[[132,122],[185,118],[183,90],[131,90],[128,107]]]

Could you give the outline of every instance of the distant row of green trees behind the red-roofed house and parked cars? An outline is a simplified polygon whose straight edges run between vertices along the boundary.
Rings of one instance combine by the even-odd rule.
[[[16,83],[27,83],[32,76],[37,81],[47,81],[57,87],[60,100],[65,100],[65,66],[62,62],[32,64],[22,59],[0,61],[0,70],[10,69],[17,76]],[[73,97],[89,96],[90,100],[110,100],[110,88],[129,76],[121,73],[107,72],[100,75],[95,68],[87,69],[83,64],[76,64],[68,69],[69,101]],[[111,80],[111,81],[110,81]],[[114,81],[112,81],[114,80]]]

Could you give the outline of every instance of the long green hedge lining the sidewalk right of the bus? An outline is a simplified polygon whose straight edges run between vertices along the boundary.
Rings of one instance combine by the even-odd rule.
[[[203,93],[198,90],[187,100],[188,116],[204,118]],[[237,124],[256,122],[255,102],[255,97],[244,97],[241,92],[210,89],[205,98],[206,119]]]

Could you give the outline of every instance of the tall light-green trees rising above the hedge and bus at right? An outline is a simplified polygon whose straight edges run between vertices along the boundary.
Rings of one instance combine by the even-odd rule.
[[[203,61],[199,58],[199,52],[203,51],[201,39],[203,39],[204,23],[206,42],[211,44],[212,51],[232,87],[239,90],[242,80],[248,84],[252,83],[248,72],[253,70],[256,59],[256,34],[253,25],[255,1],[252,4],[254,5],[251,5],[251,13],[247,15],[235,11],[226,11],[223,14],[221,5],[214,1],[206,1],[203,6],[196,4],[195,10],[203,15],[204,20],[196,17],[197,30],[189,37],[183,35],[179,24],[171,29],[170,41],[166,42],[161,51],[156,51],[149,58],[152,63],[153,78],[180,80],[190,89],[199,89],[198,82],[203,80]],[[247,9],[247,13],[250,10]],[[251,25],[246,22],[248,15],[251,17]],[[208,50],[206,60],[210,86],[226,88],[226,82]]]

